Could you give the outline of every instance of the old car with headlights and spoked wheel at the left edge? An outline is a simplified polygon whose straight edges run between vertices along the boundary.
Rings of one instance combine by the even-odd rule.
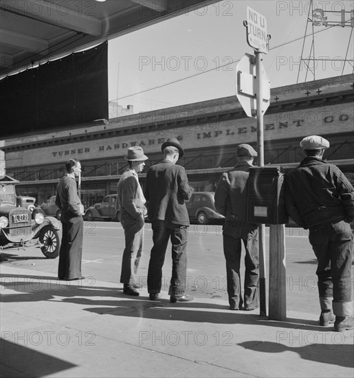
[[[15,190],[18,182],[6,175],[0,178],[0,249],[40,247],[45,257],[56,258],[61,243],[61,223],[52,216],[18,207]]]

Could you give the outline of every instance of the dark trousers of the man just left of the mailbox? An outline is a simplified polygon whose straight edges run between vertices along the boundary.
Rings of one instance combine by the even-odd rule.
[[[241,250],[245,246],[244,295],[241,293]],[[223,227],[223,252],[226,260],[226,279],[229,304],[232,309],[258,307],[258,226],[243,222],[227,222]]]

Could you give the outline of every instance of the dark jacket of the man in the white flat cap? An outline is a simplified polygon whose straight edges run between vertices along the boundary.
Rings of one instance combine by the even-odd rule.
[[[285,175],[285,205],[304,228],[354,219],[354,188],[342,171],[318,157],[305,157]]]

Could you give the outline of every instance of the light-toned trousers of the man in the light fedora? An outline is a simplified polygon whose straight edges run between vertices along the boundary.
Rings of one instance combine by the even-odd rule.
[[[125,285],[133,285],[138,283],[136,274],[144,243],[144,219],[142,219],[142,216],[134,219],[129,214],[122,212],[120,223],[124,229],[125,236],[120,282]]]

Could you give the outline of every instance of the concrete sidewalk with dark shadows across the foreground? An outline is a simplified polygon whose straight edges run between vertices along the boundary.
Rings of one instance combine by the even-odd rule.
[[[90,277],[0,268],[1,377],[353,378],[353,331],[318,314],[275,322],[217,299],[153,302],[146,288],[129,297]]]

